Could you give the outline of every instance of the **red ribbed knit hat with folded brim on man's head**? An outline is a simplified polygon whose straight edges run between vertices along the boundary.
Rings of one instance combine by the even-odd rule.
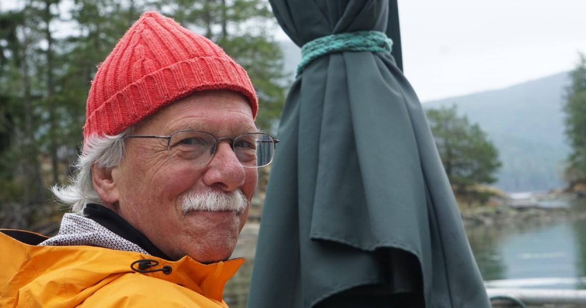
[[[166,104],[213,89],[244,94],[256,117],[258,99],[248,74],[222,48],[171,18],[143,13],[91,83],[83,136],[118,134]]]

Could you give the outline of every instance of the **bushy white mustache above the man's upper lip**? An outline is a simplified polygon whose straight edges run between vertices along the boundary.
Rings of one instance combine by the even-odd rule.
[[[181,210],[183,214],[187,214],[190,211],[233,211],[243,213],[247,206],[248,200],[240,189],[229,192],[207,189],[203,192],[190,192],[184,195]]]

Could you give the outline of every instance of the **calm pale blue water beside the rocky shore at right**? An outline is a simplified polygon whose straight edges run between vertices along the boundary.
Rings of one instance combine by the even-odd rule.
[[[586,201],[573,202],[573,217]],[[586,289],[586,219],[477,227],[468,239],[487,287]]]

